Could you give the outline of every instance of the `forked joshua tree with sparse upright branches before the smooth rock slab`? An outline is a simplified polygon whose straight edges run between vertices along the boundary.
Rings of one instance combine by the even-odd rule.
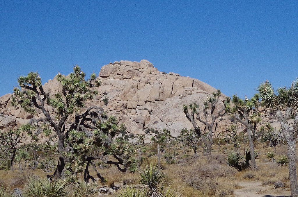
[[[183,111],[186,115],[186,118],[193,124],[194,127],[194,132],[197,133],[198,136],[202,137],[202,141],[204,142],[206,148],[207,148],[207,156],[208,156],[208,162],[211,163],[212,157],[211,157],[211,147],[212,147],[212,143],[213,143],[213,138],[212,138],[212,134],[213,134],[213,126],[216,123],[216,119],[219,116],[222,116],[224,114],[222,114],[224,112],[225,107],[221,106],[219,102],[221,95],[221,91],[217,90],[216,92],[212,93],[212,96],[209,97],[207,101],[203,102],[203,106],[202,106],[202,112],[204,115],[204,120],[201,119],[200,117],[200,113],[198,112],[198,104],[196,103],[192,103],[189,105],[184,104],[183,105]],[[215,110],[215,108],[218,108],[217,110]],[[190,109],[190,110],[189,110]],[[190,112],[189,112],[190,111]],[[195,115],[197,115],[197,118],[202,124],[204,124],[206,126],[206,129],[208,130],[208,132],[204,132],[200,129],[200,127],[198,126],[198,124],[195,122]],[[211,117],[211,120],[209,118],[209,115]],[[209,120],[208,120],[209,118]],[[203,135],[204,133],[207,134],[207,137],[205,137],[205,135]]]

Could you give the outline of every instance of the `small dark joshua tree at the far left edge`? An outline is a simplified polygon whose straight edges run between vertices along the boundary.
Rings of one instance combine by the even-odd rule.
[[[13,171],[15,154],[20,143],[20,130],[0,131],[0,151],[3,159],[9,158],[10,170]]]

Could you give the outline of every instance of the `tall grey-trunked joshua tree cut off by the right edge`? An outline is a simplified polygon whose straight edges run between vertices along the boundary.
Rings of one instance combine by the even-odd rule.
[[[290,88],[280,87],[274,92],[272,85],[266,81],[258,87],[262,104],[274,112],[277,121],[281,124],[283,136],[288,143],[289,176],[291,195],[298,196],[296,172],[296,140],[298,135],[298,79]],[[294,116],[293,129],[290,129],[289,120]]]

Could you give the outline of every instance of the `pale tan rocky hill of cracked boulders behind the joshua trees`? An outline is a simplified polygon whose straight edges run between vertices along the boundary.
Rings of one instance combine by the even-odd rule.
[[[146,128],[166,128],[174,137],[178,136],[182,128],[193,127],[187,121],[182,105],[194,101],[201,103],[216,90],[198,79],[158,71],[147,60],[109,63],[101,68],[98,79],[102,82],[97,88],[99,95],[86,106],[103,107],[108,115],[116,115],[120,123],[125,123],[127,131],[134,135],[145,135]],[[52,79],[44,84],[44,90],[51,96],[62,88],[56,79]],[[222,99],[224,97],[222,95]],[[47,110],[55,115],[52,107]],[[37,111],[36,116],[43,114]],[[16,129],[33,117],[24,110],[11,107],[10,94],[0,97],[0,129]],[[70,121],[72,117],[69,117]],[[230,123],[229,117],[218,120],[215,134],[226,132]],[[152,135],[155,134],[146,135],[145,143],[150,142]],[[55,141],[55,137],[52,140]]]

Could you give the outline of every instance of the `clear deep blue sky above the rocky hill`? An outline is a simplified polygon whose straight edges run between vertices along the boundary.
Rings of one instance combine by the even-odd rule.
[[[298,1],[0,1],[0,95],[38,71],[147,59],[228,96],[298,76]]]

